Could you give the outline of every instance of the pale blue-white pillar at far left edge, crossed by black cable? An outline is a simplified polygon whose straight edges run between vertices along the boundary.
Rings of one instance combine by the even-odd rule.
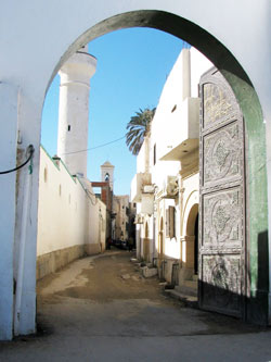
[[[18,90],[0,83],[0,172],[16,167]],[[16,172],[0,175],[0,340],[12,339]]]

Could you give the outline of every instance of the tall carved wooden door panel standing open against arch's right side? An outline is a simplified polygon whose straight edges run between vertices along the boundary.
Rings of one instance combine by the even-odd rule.
[[[245,313],[245,170],[243,115],[222,75],[201,78],[199,305]]]

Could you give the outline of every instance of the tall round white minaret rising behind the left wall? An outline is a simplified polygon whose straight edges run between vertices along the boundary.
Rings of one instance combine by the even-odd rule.
[[[57,155],[72,175],[87,177],[90,78],[95,73],[96,59],[88,54],[87,46],[77,51],[61,67]]]

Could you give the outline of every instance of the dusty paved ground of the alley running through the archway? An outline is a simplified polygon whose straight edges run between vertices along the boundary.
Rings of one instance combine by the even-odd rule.
[[[0,361],[271,361],[271,330],[185,308],[127,251],[76,261],[38,284],[37,336]]]

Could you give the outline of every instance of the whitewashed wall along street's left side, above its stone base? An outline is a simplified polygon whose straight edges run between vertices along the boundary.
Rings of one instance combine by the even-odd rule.
[[[105,212],[105,204],[88,197],[78,178],[62,162],[57,166],[41,148],[37,255],[83,245],[101,251]]]

